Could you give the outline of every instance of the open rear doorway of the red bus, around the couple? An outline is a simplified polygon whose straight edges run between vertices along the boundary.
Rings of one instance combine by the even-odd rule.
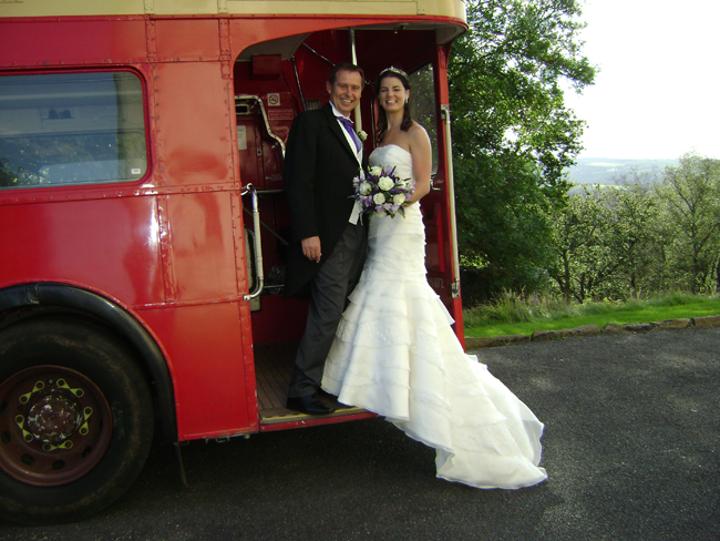
[[[402,44],[402,47],[401,47]],[[410,45],[410,47],[408,47]],[[354,52],[353,52],[354,49]],[[444,161],[446,152],[439,98],[446,91],[446,48],[438,43],[434,29],[373,27],[327,30],[290,39],[259,43],[244,51],[235,70],[236,119],[240,178],[253,184],[259,201],[259,249],[248,243],[248,262],[261,255],[263,293],[251,302],[253,343],[260,430],[338,422],[366,417],[364,410],[337,405],[330,416],[311,417],[285,408],[298,341],[306,320],[307,302],[284,295],[285,253],[289,213],[284,193],[285,143],[295,116],[319,109],[327,100],[325,82],[331,68],[357,58],[366,71],[359,116],[371,135],[366,152],[374,149],[376,120],[372,79],[392,62],[405,69],[413,84],[413,114],[433,143],[433,191],[423,200],[429,282],[456,317],[453,303],[450,224]],[[358,111],[356,111],[356,115]],[[249,212],[248,203],[245,203]],[[245,212],[248,238],[258,236]],[[259,270],[248,263],[250,283]],[[253,289],[253,285],[250,287]],[[331,400],[331,397],[330,401]]]

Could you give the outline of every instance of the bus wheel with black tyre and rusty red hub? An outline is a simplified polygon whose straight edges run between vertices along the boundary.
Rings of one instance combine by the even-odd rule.
[[[152,439],[148,385],[122,340],[72,316],[0,330],[0,516],[100,511],[133,483]]]

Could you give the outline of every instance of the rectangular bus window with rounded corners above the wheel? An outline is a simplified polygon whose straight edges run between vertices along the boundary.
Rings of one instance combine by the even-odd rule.
[[[0,76],[0,188],[133,181],[146,170],[136,75]]]

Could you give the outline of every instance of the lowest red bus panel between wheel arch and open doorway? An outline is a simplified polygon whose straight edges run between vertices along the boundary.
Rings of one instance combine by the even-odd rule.
[[[237,303],[143,310],[172,359],[181,441],[257,431],[248,416]],[[253,397],[255,400],[255,397]],[[254,402],[253,402],[254,404]],[[250,421],[253,419],[253,421]]]

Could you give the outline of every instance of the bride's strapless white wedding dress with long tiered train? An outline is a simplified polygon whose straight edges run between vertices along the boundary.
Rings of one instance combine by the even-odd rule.
[[[397,145],[370,155],[412,176]],[[322,388],[341,404],[393,422],[436,449],[438,477],[477,488],[516,489],[547,474],[537,465],[543,423],[475,356],[425,277],[425,234],[418,203],[370,218],[368,261],[328,355]]]

